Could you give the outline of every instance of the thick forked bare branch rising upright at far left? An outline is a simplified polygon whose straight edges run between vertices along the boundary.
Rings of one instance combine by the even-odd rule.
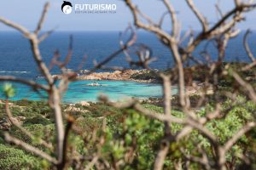
[[[45,65],[42,56],[40,54],[40,50],[38,47],[39,39],[38,39],[38,31],[41,30],[41,27],[44,23],[44,18],[47,13],[47,10],[49,8],[49,3],[46,3],[44,6],[43,14],[41,15],[41,18],[38,22],[38,28],[35,32],[27,31],[26,28],[17,25],[9,20],[5,20],[2,17],[0,18],[0,22],[3,22],[3,24],[7,26],[11,26],[15,28],[18,31],[21,31],[25,36],[29,39],[32,49],[33,58],[35,59],[39,70],[43,74],[43,76],[46,79],[46,82],[49,84],[49,106],[55,113],[55,129],[57,131],[57,156],[58,161],[62,161],[63,157],[63,140],[64,140],[64,127],[63,127],[63,120],[62,120],[62,114],[61,114],[61,94],[58,90],[58,88],[54,85],[54,78],[49,72],[49,69]],[[26,82],[27,83],[27,82]],[[31,84],[31,82],[29,83]],[[23,144],[23,143],[22,143]]]

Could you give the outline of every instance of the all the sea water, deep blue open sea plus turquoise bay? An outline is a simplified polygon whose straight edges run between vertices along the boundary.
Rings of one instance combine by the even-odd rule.
[[[226,51],[226,61],[243,61],[247,62],[248,58],[245,54],[245,50],[242,47],[242,37],[244,32],[241,32],[239,37],[232,39],[229,43],[229,46]],[[69,69],[77,69],[84,58],[84,54],[88,55],[86,62],[84,64],[83,70],[89,70],[93,66],[93,59],[96,59],[98,62],[102,59],[108,57],[109,54],[112,54],[115,50],[119,49],[119,32],[118,31],[77,31],[77,32],[54,32],[48,39],[40,44],[40,49],[44,61],[49,65],[50,60],[55,52],[55,49],[59,49],[62,59],[67,54],[67,48],[69,43],[69,36],[73,35],[73,57],[67,68]],[[254,54],[256,54],[256,42],[253,41],[256,37],[256,34],[252,34],[249,37],[249,44],[252,48]],[[154,61],[150,66],[155,69],[165,69],[173,65],[172,54],[170,51],[162,45],[153,34],[146,32],[138,32],[137,33],[137,42],[144,43],[148,45],[149,48],[152,49],[152,56],[156,57],[157,60]],[[204,61],[201,57],[200,52],[201,49],[206,46],[206,43],[201,44],[199,48],[196,49],[195,54],[197,54],[198,59]],[[208,52],[211,54],[212,60],[216,59],[217,50],[213,44],[209,44]],[[136,57],[134,56],[134,59]],[[123,66],[129,67],[125,60],[124,54],[119,54],[118,57],[113,59],[109,64],[109,66]],[[52,70],[53,74],[58,73],[59,70],[55,67]],[[12,75],[16,77],[26,77],[30,79],[38,80],[36,77],[40,76],[38,69],[35,65],[35,62],[32,58],[32,53],[30,50],[29,42],[25,37],[19,32],[15,31],[0,31],[0,76],[1,75]],[[86,84],[87,82],[81,82],[81,84]],[[77,87],[78,84],[73,83],[70,85],[71,91],[68,91],[66,101],[79,101],[79,100],[96,100],[96,94],[100,92],[106,92],[109,96],[113,96],[112,99],[116,99],[117,96],[122,95],[122,90],[124,89],[124,93],[127,96],[135,96],[135,97],[149,97],[149,96],[160,96],[160,86],[159,85],[146,85],[143,83],[135,83],[135,82],[105,82],[110,83],[110,87],[107,90],[98,89],[96,91],[95,87],[85,89],[81,87]],[[124,83],[126,83],[124,85]],[[131,84],[129,84],[131,83]],[[135,84],[135,86],[134,86]],[[133,87],[130,89],[125,89],[125,86]],[[74,88],[76,87],[76,88]],[[121,88],[119,88],[121,87]],[[151,87],[151,88],[148,88]],[[153,87],[153,88],[152,88]],[[16,85],[17,94],[15,99],[38,99],[37,96],[32,96],[28,93],[28,91],[24,91],[23,86]],[[119,90],[117,90],[119,88]],[[140,88],[142,90],[142,94],[137,93],[135,89]],[[87,95],[83,95],[79,99],[74,99],[76,94],[73,94],[75,89],[79,90],[79,92],[84,90],[84,93]],[[91,91],[90,91],[91,89]],[[155,90],[154,90],[155,89]],[[156,90],[158,89],[158,90]],[[22,92],[19,94],[19,92]],[[90,92],[95,92],[91,94]],[[127,93],[128,92],[128,93]],[[129,93],[130,92],[130,93]],[[158,92],[158,93],[152,93]],[[26,94],[24,96],[23,94]],[[73,96],[73,97],[72,97]],[[82,96],[82,95],[81,95]],[[0,98],[3,98],[3,95],[0,95]]]

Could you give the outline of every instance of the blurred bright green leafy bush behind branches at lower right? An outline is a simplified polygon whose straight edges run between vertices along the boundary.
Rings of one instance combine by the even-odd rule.
[[[238,105],[243,103],[244,105]],[[246,99],[239,97],[237,103],[231,103],[226,101],[223,104],[223,108],[228,108],[230,105],[234,105],[227,116],[224,119],[212,120],[207,123],[208,129],[218,136],[218,142],[224,144],[230,139],[246,122],[250,121],[255,112],[255,105],[251,102],[246,102]],[[163,108],[144,104],[149,110],[163,113]],[[206,109],[201,109],[198,112],[198,116],[205,116],[208,111],[211,111],[212,105],[208,105]],[[135,147],[134,157],[131,158],[131,162],[125,162],[124,169],[150,169],[153,167],[156,152],[159,150],[160,139],[164,134],[164,126],[162,122],[157,120],[148,119],[148,117],[142,116],[133,110],[125,110],[124,122],[114,123],[116,126],[114,130],[107,127],[106,135],[108,136],[106,144],[102,147],[102,153],[106,156],[106,159],[113,156],[116,161],[125,160],[125,155],[132,147]],[[172,111],[172,115],[177,117],[184,117],[181,111]],[[111,125],[113,125],[111,124]],[[173,133],[177,133],[182,129],[182,125],[172,123],[171,129]],[[255,139],[248,139],[246,135],[231,148],[228,152],[226,159],[227,163],[236,162],[237,167],[241,164],[241,161],[236,157],[237,154],[247,153],[247,145],[254,142]],[[175,161],[183,160],[183,153],[178,150],[184,148],[186,152],[191,155],[199,156],[200,153],[196,150],[196,146],[201,144],[202,147],[207,150],[207,156],[213,159],[212,147],[209,141],[201,135],[197,130],[193,130],[186,138],[179,142],[172,142],[169,148],[169,154],[166,157],[165,168],[173,169]],[[127,158],[126,158],[127,159]],[[191,169],[201,169],[201,165],[192,163],[189,166]]]

